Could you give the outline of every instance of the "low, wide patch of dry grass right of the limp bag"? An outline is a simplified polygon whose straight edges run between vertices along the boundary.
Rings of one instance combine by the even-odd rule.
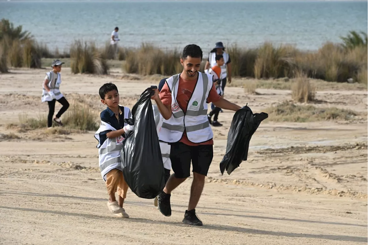
[[[276,106],[268,107],[268,120],[276,122],[305,123],[312,121],[348,121],[353,120],[359,114],[352,110],[338,109],[336,107],[316,108],[311,105],[296,105],[283,102]]]

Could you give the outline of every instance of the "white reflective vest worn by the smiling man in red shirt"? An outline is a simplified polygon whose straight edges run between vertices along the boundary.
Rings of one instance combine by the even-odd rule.
[[[198,72],[198,80],[192,97],[184,113],[176,101],[180,74],[166,80],[171,91],[171,111],[169,120],[164,120],[159,134],[160,141],[174,143],[180,141],[184,130],[189,141],[206,142],[213,138],[213,132],[207,118],[207,98],[213,86],[213,75]]]

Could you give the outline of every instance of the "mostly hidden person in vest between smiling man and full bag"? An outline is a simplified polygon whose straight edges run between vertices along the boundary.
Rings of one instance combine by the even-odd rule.
[[[161,91],[163,85],[165,84],[167,78],[161,79],[159,83],[158,90]],[[153,116],[155,117],[155,124],[157,129],[157,134],[160,134],[160,129],[163,123],[164,118],[159,112],[159,109],[156,104],[152,105],[153,107]],[[170,145],[165,142],[160,142],[160,149],[161,149],[161,155],[162,155],[162,161],[163,161],[163,167],[165,172],[165,184],[167,180],[169,180],[170,177],[170,170],[171,170],[171,160],[170,160]],[[156,207],[158,206],[157,197],[153,200],[153,205]]]

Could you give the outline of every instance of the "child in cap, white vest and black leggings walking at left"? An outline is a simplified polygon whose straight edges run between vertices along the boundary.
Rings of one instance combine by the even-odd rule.
[[[47,128],[52,127],[52,121],[63,126],[61,123],[60,117],[61,115],[69,108],[69,103],[65,99],[64,95],[60,92],[60,84],[61,84],[61,66],[64,62],[60,60],[54,60],[52,62],[52,70],[46,73],[45,80],[43,81],[43,89],[42,89],[42,102],[46,102],[49,104],[49,115],[47,116]],[[55,111],[55,103],[59,102],[63,105],[59,112],[54,116]]]

